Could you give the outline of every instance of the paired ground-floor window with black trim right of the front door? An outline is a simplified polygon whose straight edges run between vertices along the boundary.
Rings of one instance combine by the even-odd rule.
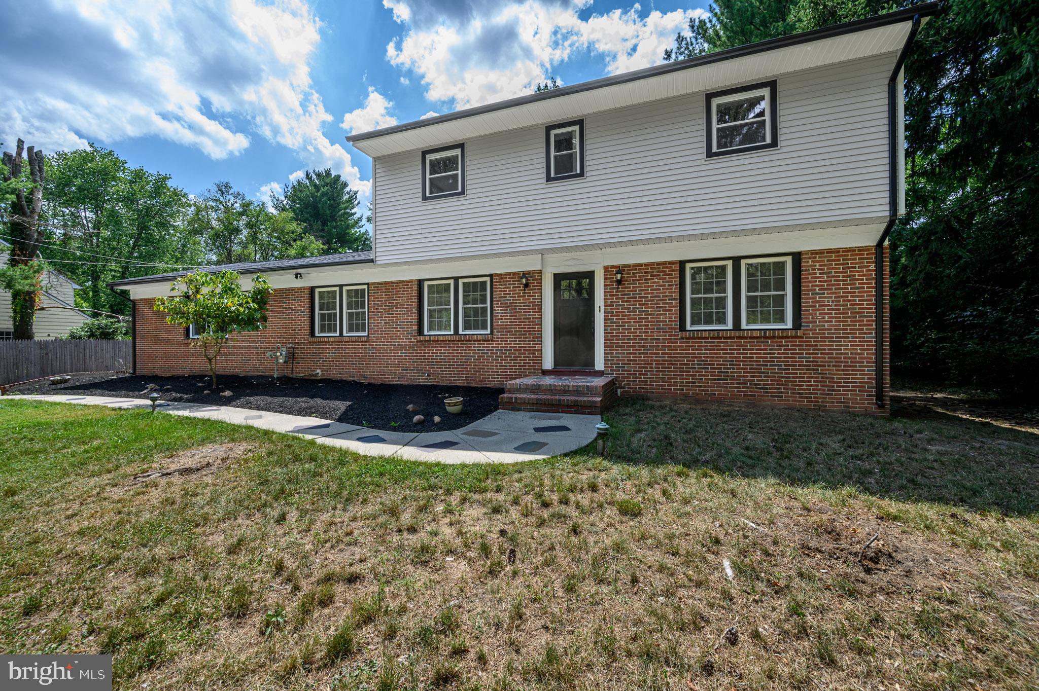
[[[799,329],[799,254],[683,261],[682,328]]]

